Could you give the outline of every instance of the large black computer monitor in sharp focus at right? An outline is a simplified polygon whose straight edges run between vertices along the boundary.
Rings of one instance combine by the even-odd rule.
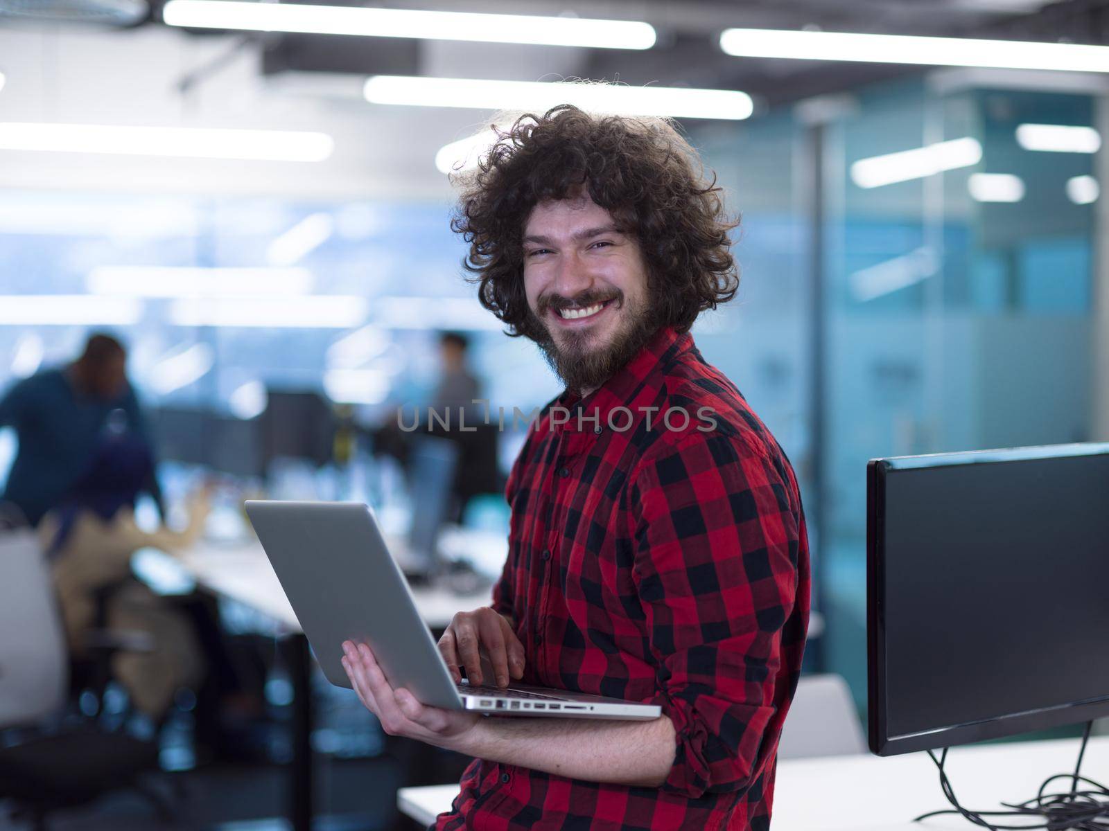
[[[1109,444],[867,473],[871,750],[1109,715]]]

